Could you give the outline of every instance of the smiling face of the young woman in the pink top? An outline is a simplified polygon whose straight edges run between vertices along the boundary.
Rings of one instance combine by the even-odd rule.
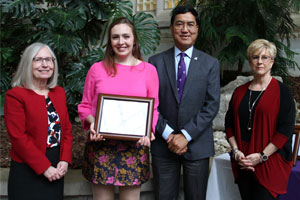
[[[132,55],[134,36],[127,24],[117,24],[111,29],[111,47],[116,57],[124,58]]]

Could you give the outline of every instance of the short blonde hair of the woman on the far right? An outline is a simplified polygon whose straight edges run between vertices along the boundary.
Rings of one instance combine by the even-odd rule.
[[[257,39],[253,41],[247,49],[248,60],[251,59],[251,56],[253,56],[255,52],[258,51],[259,53],[261,53],[263,50],[267,51],[270,54],[272,60],[275,59],[277,53],[275,44],[265,39]]]

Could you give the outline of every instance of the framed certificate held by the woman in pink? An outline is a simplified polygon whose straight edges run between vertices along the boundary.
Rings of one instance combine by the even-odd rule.
[[[95,130],[108,139],[150,137],[153,108],[154,98],[99,94]]]

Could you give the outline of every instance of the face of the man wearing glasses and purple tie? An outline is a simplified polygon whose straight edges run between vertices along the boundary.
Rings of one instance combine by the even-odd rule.
[[[190,12],[176,15],[170,29],[175,46],[181,51],[193,46],[198,36],[196,18]]]

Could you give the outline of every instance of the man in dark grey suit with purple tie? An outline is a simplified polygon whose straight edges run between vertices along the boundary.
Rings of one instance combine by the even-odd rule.
[[[160,85],[160,115],[151,144],[155,199],[178,198],[183,166],[185,199],[205,200],[209,157],[214,155],[212,121],[220,101],[219,62],[193,47],[198,35],[193,8],[176,7],[170,30],[175,47],[149,59]]]

